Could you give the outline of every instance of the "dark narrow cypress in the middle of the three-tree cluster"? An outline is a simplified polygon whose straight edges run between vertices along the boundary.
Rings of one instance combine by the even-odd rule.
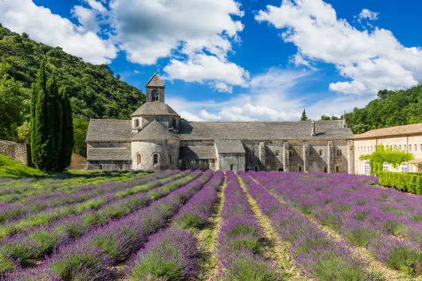
[[[59,96],[59,88],[57,86],[56,76],[53,72],[50,79],[47,82],[47,92],[50,99],[48,117],[50,120],[50,146],[49,146],[49,164],[48,169],[50,171],[57,170],[59,163],[59,155],[61,152],[61,127],[63,123],[63,113],[61,110],[61,96]]]

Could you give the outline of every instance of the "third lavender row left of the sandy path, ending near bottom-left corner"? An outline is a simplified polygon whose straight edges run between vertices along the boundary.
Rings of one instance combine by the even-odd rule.
[[[114,200],[97,211],[90,210],[81,215],[66,216],[57,222],[37,227],[27,233],[8,236],[0,247],[0,273],[33,264],[34,261],[43,258],[61,245],[89,233],[96,225],[106,225],[112,220],[128,216],[147,206],[152,200],[169,194],[200,175],[201,171],[195,171],[165,185],[157,186],[148,183],[149,187],[155,188],[145,188],[139,194]],[[157,183],[157,180],[152,183]]]

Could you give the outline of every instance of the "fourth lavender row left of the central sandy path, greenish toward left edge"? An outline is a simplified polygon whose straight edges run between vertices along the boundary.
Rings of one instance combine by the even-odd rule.
[[[166,178],[162,178],[157,175],[158,179],[148,178],[143,185],[134,185],[134,183],[132,183],[131,185],[134,185],[132,187],[130,187],[131,185],[128,187],[125,183],[122,183],[121,190],[110,191],[107,194],[97,196],[97,198],[92,198],[86,202],[70,206],[50,208],[44,211],[35,212],[34,214],[28,213],[24,215],[23,218],[17,220],[6,220],[0,225],[0,238],[5,238],[6,236],[10,236],[21,231],[28,231],[33,227],[40,225],[48,225],[55,220],[66,218],[67,216],[85,214],[90,210],[101,209],[101,207],[110,202],[112,203],[114,200],[125,198],[126,196],[130,196],[132,194],[139,194],[140,192],[148,191],[154,187],[164,185],[165,183],[168,185],[184,184],[185,180],[190,178],[188,175],[188,172],[174,174],[172,176],[167,176]],[[6,211],[9,209],[13,210],[13,206],[6,208]]]

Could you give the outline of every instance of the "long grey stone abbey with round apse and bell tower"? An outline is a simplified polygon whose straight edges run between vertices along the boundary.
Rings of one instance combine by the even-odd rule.
[[[354,174],[343,121],[188,122],[165,103],[154,74],[131,120],[90,121],[88,169],[221,169]]]

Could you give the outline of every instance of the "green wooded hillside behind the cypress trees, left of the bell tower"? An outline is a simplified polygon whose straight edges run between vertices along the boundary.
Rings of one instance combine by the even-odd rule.
[[[0,139],[28,141],[30,87],[41,59],[54,70],[59,86],[67,86],[74,117],[75,152],[86,154],[86,130],[90,118],[127,119],[145,101],[136,87],[119,81],[107,65],[82,59],[37,43],[0,25]]]

